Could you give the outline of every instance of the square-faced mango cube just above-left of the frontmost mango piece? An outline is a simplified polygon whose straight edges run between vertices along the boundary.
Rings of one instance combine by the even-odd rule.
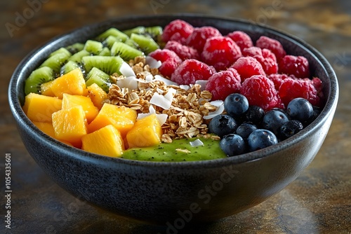
[[[81,147],[81,137],[87,134],[86,115],[83,107],[74,106],[53,113],[55,138]]]

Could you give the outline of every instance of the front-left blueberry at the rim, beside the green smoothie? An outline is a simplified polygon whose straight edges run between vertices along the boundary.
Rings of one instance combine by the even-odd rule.
[[[246,153],[247,146],[242,137],[236,134],[229,134],[220,140],[220,148],[227,156],[237,156],[241,153]]]

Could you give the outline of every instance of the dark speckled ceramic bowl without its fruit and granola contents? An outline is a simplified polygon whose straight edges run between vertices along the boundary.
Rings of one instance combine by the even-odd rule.
[[[324,83],[326,104],[317,119],[297,135],[262,150],[218,160],[152,163],[87,153],[48,137],[25,116],[24,81],[53,50],[84,42],[110,27],[164,26],[175,19],[210,25],[223,34],[248,33],[253,41],[270,36],[287,53],[303,55]],[[263,202],[307,167],[319,151],[338,101],[338,83],[329,62],[312,46],[277,29],[245,20],[204,15],[152,15],[118,18],[58,36],[34,50],[15,70],[8,90],[13,116],[29,154],[72,195],[135,219],[157,222],[213,221]]]

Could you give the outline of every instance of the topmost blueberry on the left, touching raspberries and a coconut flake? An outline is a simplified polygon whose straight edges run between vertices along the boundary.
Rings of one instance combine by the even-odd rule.
[[[224,109],[230,116],[236,118],[249,109],[249,101],[244,95],[232,93],[225,98]]]

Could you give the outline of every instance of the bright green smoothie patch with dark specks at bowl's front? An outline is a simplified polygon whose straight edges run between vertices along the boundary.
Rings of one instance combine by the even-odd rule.
[[[124,151],[121,158],[155,162],[189,162],[227,158],[220,149],[219,141],[199,138],[204,146],[191,146],[197,138],[176,139],[172,143],[161,143],[145,148],[133,148]]]

